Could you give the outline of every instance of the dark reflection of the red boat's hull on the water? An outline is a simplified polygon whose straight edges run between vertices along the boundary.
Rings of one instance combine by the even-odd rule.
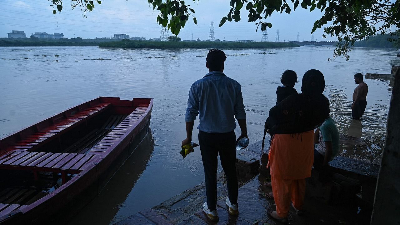
[[[100,195],[86,206],[70,225],[108,225],[113,224],[138,211],[126,199],[142,176],[154,150],[154,139],[149,131],[118,172],[110,179]],[[152,179],[145,177],[144,179]],[[138,202],[146,201],[146,196],[138,195]]]

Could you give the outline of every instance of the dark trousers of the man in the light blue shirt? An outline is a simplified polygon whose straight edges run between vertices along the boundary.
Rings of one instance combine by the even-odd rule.
[[[204,166],[208,209],[214,211],[217,207],[218,153],[226,175],[229,200],[232,204],[237,203],[238,179],[236,177],[236,135],[234,131],[229,133],[199,131],[198,137]]]

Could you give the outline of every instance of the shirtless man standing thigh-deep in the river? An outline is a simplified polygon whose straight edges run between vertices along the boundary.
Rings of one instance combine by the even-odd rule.
[[[353,93],[352,117],[359,120],[364,114],[365,107],[367,106],[368,85],[362,80],[362,74],[356,73],[354,75],[354,82],[358,84]]]

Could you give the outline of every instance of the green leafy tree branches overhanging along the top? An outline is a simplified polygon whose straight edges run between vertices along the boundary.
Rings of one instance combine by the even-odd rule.
[[[69,1],[69,0],[68,0]],[[100,0],[71,0],[72,8],[80,7],[84,12],[94,10],[94,3],[101,4]],[[200,2],[199,0],[192,0]],[[178,35],[180,29],[186,25],[190,16],[197,24],[194,10],[184,0],[148,0],[154,10],[160,11],[157,22],[167,27],[172,34]],[[226,0],[230,4],[230,11],[222,18],[219,26],[226,21],[238,22],[241,20],[241,11],[248,14],[248,22],[254,22],[256,30],[262,31],[271,28],[268,18],[273,13],[288,13],[298,8],[306,10],[321,10],[324,15],[312,25],[313,33],[323,28],[324,35],[336,36],[338,47],[334,51],[334,58],[344,56],[349,58],[348,52],[356,40],[365,40],[375,34],[391,34],[389,40],[400,43],[400,0]],[[62,0],[52,0],[58,11],[62,10]],[[300,4],[300,7],[298,7]],[[53,10],[56,13],[56,10]],[[311,24],[310,24],[311,26]],[[394,30],[394,31],[392,31]]]

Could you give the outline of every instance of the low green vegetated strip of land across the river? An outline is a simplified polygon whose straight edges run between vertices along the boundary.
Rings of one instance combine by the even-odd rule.
[[[223,41],[140,41],[120,40],[103,42],[100,48],[292,48],[292,42],[223,42]]]

